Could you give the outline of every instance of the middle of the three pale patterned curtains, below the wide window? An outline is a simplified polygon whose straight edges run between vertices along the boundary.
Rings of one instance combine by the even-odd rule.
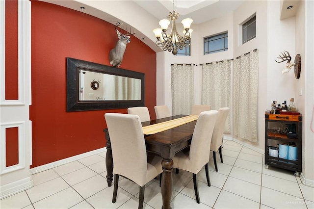
[[[203,63],[202,66],[202,104],[210,109],[230,107],[230,79],[233,60]],[[230,133],[230,114],[226,120],[225,133]]]

